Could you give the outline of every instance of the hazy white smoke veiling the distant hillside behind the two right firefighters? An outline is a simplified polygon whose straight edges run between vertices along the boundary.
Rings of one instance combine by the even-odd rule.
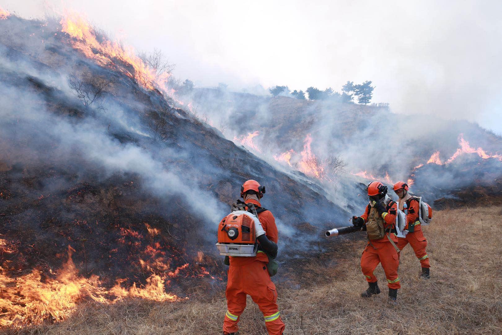
[[[356,196],[361,193],[356,181],[369,181],[351,174],[366,171],[369,179],[382,180],[391,188],[399,180],[415,179],[415,167],[428,165],[428,159],[437,151],[441,161],[446,162],[460,147],[461,138],[469,141],[473,148],[482,147],[490,154],[500,153],[500,138],[475,124],[426,114],[394,114],[386,107],[270,98],[220,89],[196,89],[183,98],[192,101],[199,113],[209,115],[215,126],[245,125],[220,128],[237,144],[248,134],[259,132],[252,138],[255,148],[251,143],[245,142],[244,145],[276,168],[289,173],[295,174],[292,170],[299,168],[295,163],[301,159],[306,137],[311,134],[312,152],[319,162],[335,155],[347,163],[345,174],[338,175],[334,182],[320,182],[330,199],[342,206],[360,205],[363,197]],[[292,167],[274,159],[274,156],[291,149],[295,152],[291,158]],[[470,155],[475,156],[475,162],[427,169],[426,183],[424,173],[418,171],[420,178],[417,181],[423,185],[416,184],[411,190],[424,192],[432,201],[472,184],[475,181],[472,175],[458,173],[469,166],[474,167],[479,161],[477,154]],[[493,164],[499,163],[497,159],[493,160]],[[493,176],[490,172],[483,178]],[[296,177],[301,178],[298,174]]]

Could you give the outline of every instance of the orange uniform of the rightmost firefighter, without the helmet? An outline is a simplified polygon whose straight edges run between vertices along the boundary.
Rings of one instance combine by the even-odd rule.
[[[406,234],[405,238],[398,238],[398,248],[403,250],[404,247],[409,243],[415,252],[415,256],[420,260],[420,264],[423,268],[430,268],[429,256],[425,251],[427,247],[427,240],[422,232],[422,226],[420,225],[420,220],[418,219],[419,213],[419,202],[417,200],[411,199],[412,196],[409,192],[403,198],[400,198],[399,209],[403,210],[405,202],[408,204],[408,215],[406,215],[406,222],[408,227],[414,226],[415,231],[413,233]]]

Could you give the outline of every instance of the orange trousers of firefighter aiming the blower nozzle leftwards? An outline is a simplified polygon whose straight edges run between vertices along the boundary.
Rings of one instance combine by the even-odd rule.
[[[376,281],[373,271],[379,263],[382,263],[389,288],[401,288],[398,276],[399,257],[396,249],[390,242],[371,241],[371,244],[373,246],[368,244],[361,257],[361,271],[366,281],[368,283]]]

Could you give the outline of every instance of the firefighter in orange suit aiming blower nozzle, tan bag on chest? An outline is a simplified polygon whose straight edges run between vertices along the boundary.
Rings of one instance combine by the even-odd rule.
[[[395,228],[397,203],[386,198],[387,186],[380,181],[369,183],[367,192],[369,204],[364,214],[352,217],[352,224],[360,226],[368,235],[368,244],[361,257],[361,270],[369,287],[361,296],[367,298],[380,293],[373,271],[379,263],[382,263],[389,286],[389,298],[396,302],[398,289],[401,288],[396,246],[398,239],[392,233]]]

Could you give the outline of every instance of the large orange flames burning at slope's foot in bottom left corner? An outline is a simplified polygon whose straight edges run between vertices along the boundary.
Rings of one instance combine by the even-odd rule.
[[[110,290],[106,290],[98,276],[78,276],[78,270],[71,258],[74,251],[73,248],[68,248],[68,260],[55,279],[42,280],[38,270],[11,278],[6,275],[7,270],[4,268],[5,263],[3,264],[0,268],[0,326],[21,327],[40,323],[49,317],[61,321],[73,312],[78,302],[89,299],[107,304],[126,297],[157,301],[180,299],[165,292],[165,279],[156,274],[147,279],[145,287],[137,287],[134,283],[132,287],[124,288],[121,284],[125,279],[120,279]]]

